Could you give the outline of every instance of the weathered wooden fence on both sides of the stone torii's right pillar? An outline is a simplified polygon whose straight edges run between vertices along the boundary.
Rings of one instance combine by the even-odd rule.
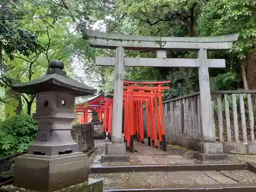
[[[166,141],[198,150],[201,141],[199,92],[163,102]],[[256,90],[211,91],[216,141],[224,153],[256,153]],[[145,117],[145,116],[144,116]]]

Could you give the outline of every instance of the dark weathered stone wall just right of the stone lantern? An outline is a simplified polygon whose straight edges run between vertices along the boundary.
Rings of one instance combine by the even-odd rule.
[[[94,147],[94,130],[91,123],[73,125],[71,136],[78,143],[80,152],[88,152]]]

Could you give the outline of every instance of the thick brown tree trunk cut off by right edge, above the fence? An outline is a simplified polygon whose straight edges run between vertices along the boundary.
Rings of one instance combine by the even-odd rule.
[[[248,88],[256,90],[256,48],[248,56],[247,80]]]

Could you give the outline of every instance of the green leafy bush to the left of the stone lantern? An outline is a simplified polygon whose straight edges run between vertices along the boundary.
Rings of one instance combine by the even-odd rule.
[[[27,150],[36,138],[36,125],[29,115],[13,116],[0,122],[0,157]]]

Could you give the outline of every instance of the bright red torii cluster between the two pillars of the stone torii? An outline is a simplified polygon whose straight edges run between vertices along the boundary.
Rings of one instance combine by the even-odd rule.
[[[135,135],[137,135],[138,140],[144,143],[143,103],[146,105],[148,145],[151,145],[150,141],[152,141],[152,144],[158,148],[159,139],[160,148],[166,151],[162,92],[163,90],[168,90],[170,88],[162,87],[162,84],[169,82],[170,80],[124,80],[124,84],[128,84],[128,86],[124,86],[123,93],[125,111],[124,139],[126,141],[127,150],[130,152],[133,152],[133,140]],[[135,86],[135,84],[144,86]],[[148,84],[154,84],[157,86],[147,86]]]

